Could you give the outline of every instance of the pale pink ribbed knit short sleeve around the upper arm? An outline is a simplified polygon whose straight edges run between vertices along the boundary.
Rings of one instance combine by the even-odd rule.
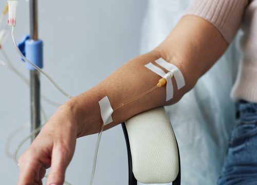
[[[249,0],[195,0],[185,15],[196,15],[212,23],[230,43],[244,16]]]

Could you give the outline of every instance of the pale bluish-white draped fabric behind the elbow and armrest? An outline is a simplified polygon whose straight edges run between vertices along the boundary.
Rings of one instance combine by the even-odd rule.
[[[168,36],[191,2],[149,1],[141,53],[155,48]],[[216,184],[221,174],[235,113],[229,94],[235,79],[236,52],[232,44],[194,89],[177,104],[166,107],[179,145],[182,185]]]

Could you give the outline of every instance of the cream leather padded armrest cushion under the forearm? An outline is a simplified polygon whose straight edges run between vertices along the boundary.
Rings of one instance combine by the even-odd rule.
[[[142,183],[173,182],[179,171],[178,148],[165,109],[138,114],[125,124],[135,178]]]

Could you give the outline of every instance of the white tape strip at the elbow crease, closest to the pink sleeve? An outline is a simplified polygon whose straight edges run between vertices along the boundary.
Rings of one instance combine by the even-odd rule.
[[[166,68],[167,70],[171,71],[174,75],[174,78],[177,82],[177,89],[179,90],[180,88],[182,88],[183,86],[186,85],[185,79],[182,75],[182,72],[179,70],[179,68],[177,68],[177,66],[165,61],[162,58],[159,58],[158,60],[155,61],[158,65],[160,65],[161,67]]]

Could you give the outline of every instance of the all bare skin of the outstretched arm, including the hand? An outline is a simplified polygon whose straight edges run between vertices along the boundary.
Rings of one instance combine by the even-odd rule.
[[[51,170],[47,184],[63,184],[66,168],[75,151],[76,139],[98,133],[103,124],[98,102],[108,96],[112,107],[115,107],[157,84],[160,77],[145,68],[145,64],[152,62],[157,65],[154,61],[163,58],[181,70],[186,86],[177,90],[174,85],[174,98],[169,102],[166,102],[166,87],[163,86],[121,107],[113,113],[113,122],[105,126],[104,130],[145,110],[179,101],[227,47],[228,43],[211,23],[193,15],[182,17],[168,38],[153,51],[128,61],[103,82],[58,108],[20,157],[18,184],[42,184],[41,179],[49,167]],[[173,84],[176,84],[174,79]]]

